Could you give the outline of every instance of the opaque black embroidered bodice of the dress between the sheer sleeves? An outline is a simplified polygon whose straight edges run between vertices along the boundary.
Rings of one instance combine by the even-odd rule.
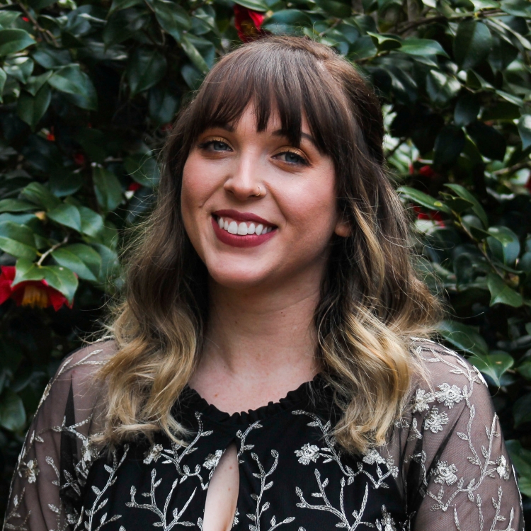
[[[235,531],[401,529],[406,517],[394,463],[375,451],[363,459],[342,455],[329,423],[304,411],[287,415],[230,427],[198,415],[186,446],[159,437],[98,459],[84,489],[79,529],[211,531],[208,489],[232,444],[239,472]]]

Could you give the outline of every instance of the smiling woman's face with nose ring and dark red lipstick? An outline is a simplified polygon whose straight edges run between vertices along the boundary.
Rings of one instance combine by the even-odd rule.
[[[249,105],[236,126],[206,130],[190,150],[185,229],[220,285],[273,287],[294,275],[320,280],[333,232],[348,230],[338,220],[335,189],[333,162],[304,118],[294,147],[280,134],[278,116],[257,132]]]

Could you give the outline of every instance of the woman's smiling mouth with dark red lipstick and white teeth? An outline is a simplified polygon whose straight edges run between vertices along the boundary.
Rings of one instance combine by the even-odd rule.
[[[244,215],[234,213],[235,217]],[[261,219],[261,218],[258,218]],[[212,214],[212,227],[219,240],[233,247],[254,247],[275,235],[277,227],[258,219],[234,219],[231,215]]]

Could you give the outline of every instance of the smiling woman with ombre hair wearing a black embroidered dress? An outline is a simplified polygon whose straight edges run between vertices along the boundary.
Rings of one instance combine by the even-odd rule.
[[[382,137],[324,45],[221,59],[166,147],[113,339],[45,392],[6,529],[523,530],[484,379],[423,339],[438,304]]]

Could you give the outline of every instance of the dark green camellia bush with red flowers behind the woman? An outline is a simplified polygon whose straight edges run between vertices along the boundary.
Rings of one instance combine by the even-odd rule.
[[[60,360],[122,287],[157,156],[216,59],[268,33],[336,48],[375,87],[440,341],[491,386],[531,503],[527,0],[4,0],[0,500]]]

